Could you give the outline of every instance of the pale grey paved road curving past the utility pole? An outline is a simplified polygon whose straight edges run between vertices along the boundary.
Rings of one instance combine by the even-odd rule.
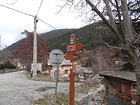
[[[68,92],[68,88],[68,83],[58,84],[58,91]],[[0,105],[34,105],[33,100],[53,94],[54,89],[55,82],[28,80],[24,71],[0,74]]]

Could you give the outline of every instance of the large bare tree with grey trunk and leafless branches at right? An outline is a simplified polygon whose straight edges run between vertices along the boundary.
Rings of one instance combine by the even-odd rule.
[[[133,1],[135,0],[131,0]],[[70,8],[80,11],[80,16],[85,15],[88,21],[103,20],[115,34],[118,46],[108,46],[123,51],[124,54],[120,57],[136,68],[138,104],[140,104],[140,35],[132,27],[128,2],[127,0],[66,0]],[[117,15],[114,15],[113,10],[116,10]]]

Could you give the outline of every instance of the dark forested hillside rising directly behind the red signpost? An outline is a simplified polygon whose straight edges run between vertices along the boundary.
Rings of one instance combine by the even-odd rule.
[[[76,42],[82,43],[84,48],[93,49],[98,45],[102,44],[102,40],[109,42],[110,44],[115,44],[115,37],[108,27],[106,27],[102,22],[93,23],[88,26],[82,27],[77,30],[70,31],[61,36],[49,38],[47,40],[48,50],[61,49],[65,52],[66,46],[69,45],[70,34],[75,33]],[[102,39],[101,39],[101,36]]]

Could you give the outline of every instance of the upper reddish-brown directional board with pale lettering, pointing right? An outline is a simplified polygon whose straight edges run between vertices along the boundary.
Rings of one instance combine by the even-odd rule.
[[[67,46],[67,52],[80,51],[83,48],[81,43]]]

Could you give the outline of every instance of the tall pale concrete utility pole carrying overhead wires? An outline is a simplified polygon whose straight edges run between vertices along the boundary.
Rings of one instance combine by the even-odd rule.
[[[34,41],[33,41],[33,77],[37,75],[37,16],[34,17]]]

